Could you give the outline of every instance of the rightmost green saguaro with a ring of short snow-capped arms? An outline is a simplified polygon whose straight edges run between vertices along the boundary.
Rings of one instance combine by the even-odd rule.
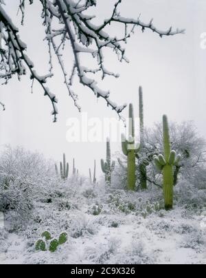
[[[179,164],[181,156],[176,156],[176,152],[171,151],[168,117],[165,115],[163,116],[163,150],[164,156],[159,154],[159,156],[155,156],[154,160],[157,169],[163,173],[165,209],[170,210],[173,208],[174,166]]]

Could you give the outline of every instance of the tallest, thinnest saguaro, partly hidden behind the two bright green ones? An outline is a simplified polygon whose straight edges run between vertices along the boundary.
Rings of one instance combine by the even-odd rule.
[[[140,130],[140,154],[144,151],[144,102],[142,88],[139,87],[139,130]],[[137,155],[138,156],[138,155]],[[141,189],[147,189],[147,169],[146,162],[139,163],[139,180]]]

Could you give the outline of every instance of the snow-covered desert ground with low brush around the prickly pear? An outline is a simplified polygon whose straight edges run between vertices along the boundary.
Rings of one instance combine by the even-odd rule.
[[[159,189],[126,193],[71,182],[52,202],[36,204],[35,221],[1,228],[0,264],[205,264],[204,208],[177,198],[173,211],[162,206]],[[44,231],[66,231],[68,242],[56,253],[36,251]]]

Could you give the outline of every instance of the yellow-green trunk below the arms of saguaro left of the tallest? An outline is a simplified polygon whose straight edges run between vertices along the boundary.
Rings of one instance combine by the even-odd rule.
[[[127,189],[130,191],[135,191],[135,183],[136,183],[136,167],[135,167],[135,150],[128,151],[127,158]]]

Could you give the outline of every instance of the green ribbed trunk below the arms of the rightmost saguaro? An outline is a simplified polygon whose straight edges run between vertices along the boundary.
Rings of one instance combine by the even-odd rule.
[[[173,184],[173,169],[171,165],[167,164],[163,167],[163,194],[165,199],[165,210],[173,208]]]

